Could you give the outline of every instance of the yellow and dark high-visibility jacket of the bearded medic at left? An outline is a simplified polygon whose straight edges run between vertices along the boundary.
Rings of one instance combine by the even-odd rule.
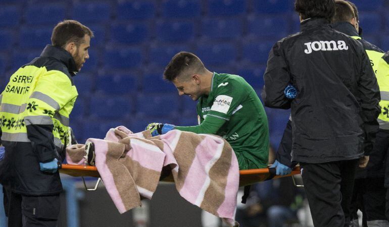
[[[72,55],[47,45],[39,58],[19,68],[0,95],[0,126],[6,149],[0,183],[26,195],[62,191],[58,172],[42,173],[39,162],[65,157],[69,115],[77,98]]]

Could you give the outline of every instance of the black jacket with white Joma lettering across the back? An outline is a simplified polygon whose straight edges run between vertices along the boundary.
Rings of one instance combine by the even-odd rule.
[[[374,72],[362,44],[325,19],[307,19],[278,41],[264,80],[265,105],[291,108],[293,161],[351,160],[372,149],[380,112]],[[288,84],[298,90],[293,100],[283,93]]]

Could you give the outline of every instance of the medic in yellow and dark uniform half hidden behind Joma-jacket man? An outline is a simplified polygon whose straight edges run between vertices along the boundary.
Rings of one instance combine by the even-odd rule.
[[[343,0],[335,0],[336,10],[333,17],[332,28],[345,33],[360,41],[367,51],[373,71],[375,72],[381,92],[380,106],[384,107],[389,100],[386,97],[387,87],[384,71],[378,72],[378,63],[384,52],[377,46],[367,42],[358,34],[358,10],[351,3]],[[355,8],[354,8],[355,7]],[[389,91],[389,90],[388,90]],[[383,110],[383,109],[382,109]],[[374,148],[369,156],[369,163],[365,169],[358,169],[352,197],[351,216],[358,221],[357,211],[363,213],[364,226],[389,226],[385,216],[384,169],[386,151],[389,148],[389,118],[379,116],[379,131],[376,134]],[[358,226],[357,224],[355,224]]]

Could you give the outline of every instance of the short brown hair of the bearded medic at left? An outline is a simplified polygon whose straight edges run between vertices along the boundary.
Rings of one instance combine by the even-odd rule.
[[[85,35],[93,37],[93,32],[80,22],[74,20],[61,21],[53,29],[52,45],[63,48],[69,42],[74,42],[78,47],[84,41]]]

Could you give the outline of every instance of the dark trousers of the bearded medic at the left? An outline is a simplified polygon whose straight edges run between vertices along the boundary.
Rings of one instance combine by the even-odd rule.
[[[60,195],[24,196],[3,188],[8,227],[57,226]]]

